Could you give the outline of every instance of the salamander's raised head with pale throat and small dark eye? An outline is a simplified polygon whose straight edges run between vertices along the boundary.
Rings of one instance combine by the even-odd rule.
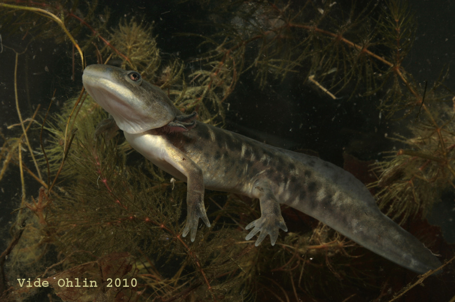
[[[159,87],[144,81],[136,71],[89,65],[84,70],[82,82],[88,94],[127,133],[162,127],[181,114]]]

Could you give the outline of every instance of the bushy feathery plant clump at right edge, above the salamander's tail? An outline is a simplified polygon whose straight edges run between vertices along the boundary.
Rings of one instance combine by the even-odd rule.
[[[422,115],[408,126],[411,135],[395,137],[406,148],[377,165],[379,205],[401,223],[425,217],[441,193],[455,187],[455,111],[436,103]]]

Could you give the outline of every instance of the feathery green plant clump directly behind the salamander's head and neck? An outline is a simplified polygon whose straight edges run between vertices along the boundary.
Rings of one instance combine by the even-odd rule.
[[[110,44],[116,47],[114,51],[113,48],[105,46],[104,51],[109,54],[109,58],[120,59],[120,66],[124,69],[139,70],[144,78],[167,91],[182,111],[197,110],[199,117],[205,122],[211,122],[216,116],[223,116],[224,109],[219,100],[219,92],[211,91],[211,96],[204,96],[201,93],[201,90],[206,89],[204,85],[187,83],[183,76],[183,62],[174,59],[161,66],[160,51],[151,25],[139,24],[134,19],[123,21],[113,30]],[[211,108],[216,111],[215,115],[209,113]]]

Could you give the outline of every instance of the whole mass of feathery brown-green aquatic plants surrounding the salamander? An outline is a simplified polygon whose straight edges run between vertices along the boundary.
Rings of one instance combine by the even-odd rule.
[[[441,190],[451,189],[453,93],[438,89],[444,77],[424,89],[406,72],[403,60],[415,31],[406,2],[360,7],[204,0],[175,5],[189,3],[205,19],[188,28],[194,32],[180,33],[199,43],[196,54],[186,59],[162,50],[158,22],[144,21],[140,14],[118,22],[114,11],[77,1],[2,1],[2,45],[14,55],[9,39],[15,36],[24,38],[29,52],[41,43],[64,46],[73,79],[84,64],[95,62],[138,70],[179,110],[197,111],[202,121],[217,125],[223,125],[235,102],[230,97],[247,78],[262,89],[295,77],[323,96],[357,97],[359,102],[361,95],[374,100],[388,118],[412,120],[407,123],[411,132],[396,136],[401,149],[375,170],[378,202],[389,216],[402,223],[419,219],[417,214],[430,211]],[[72,86],[71,93],[57,92],[65,98],[58,108],[44,112],[51,103],[45,99],[45,106],[26,113],[30,119],[0,129],[0,183],[6,186],[19,167],[21,188],[13,198],[17,210],[11,240],[0,258],[3,300],[392,300],[394,293],[422,292],[411,289],[422,282],[433,291],[453,288],[453,280],[427,279],[429,274],[406,277],[290,209],[283,209],[286,220],[293,221],[289,232],[274,247],[255,247],[244,240],[244,227],[260,215],[257,200],[251,205],[248,198],[232,194],[206,192],[212,226],[198,230],[190,243],[181,237],[185,184],[135,156],[119,135],[97,137],[107,114],[80,91],[79,80]],[[21,117],[19,94],[11,99],[16,101]],[[441,247],[444,259],[453,255],[447,249]],[[447,262],[444,270],[443,276],[450,275],[453,264]],[[47,281],[49,287],[17,282],[28,278]],[[98,286],[65,287],[54,278],[86,279]],[[116,279],[128,286],[116,286]]]

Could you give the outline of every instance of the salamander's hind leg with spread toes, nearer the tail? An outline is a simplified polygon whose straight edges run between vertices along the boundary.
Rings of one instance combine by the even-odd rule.
[[[270,235],[271,245],[275,245],[278,238],[279,229],[287,232],[288,228],[281,216],[280,204],[271,192],[268,185],[256,186],[257,195],[260,201],[261,217],[248,224],[245,229],[251,229],[251,232],[245,237],[245,240],[250,240],[260,232],[255,245],[258,246],[265,236]]]

